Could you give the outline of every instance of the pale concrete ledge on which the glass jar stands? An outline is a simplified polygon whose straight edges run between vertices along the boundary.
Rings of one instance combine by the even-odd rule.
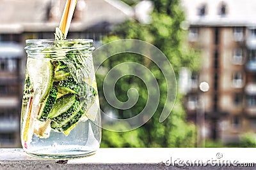
[[[0,169],[254,169],[256,148],[100,148],[90,157],[47,160],[0,149]]]

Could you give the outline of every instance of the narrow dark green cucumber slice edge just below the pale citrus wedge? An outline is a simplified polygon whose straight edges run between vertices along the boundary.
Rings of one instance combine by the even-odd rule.
[[[54,103],[56,102],[57,94],[58,94],[57,88],[52,87],[52,89],[49,93],[49,96],[46,100],[46,103],[44,105],[44,110],[42,111],[41,115],[38,117],[38,120],[46,122],[47,117],[48,117],[49,113],[51,112]]]

